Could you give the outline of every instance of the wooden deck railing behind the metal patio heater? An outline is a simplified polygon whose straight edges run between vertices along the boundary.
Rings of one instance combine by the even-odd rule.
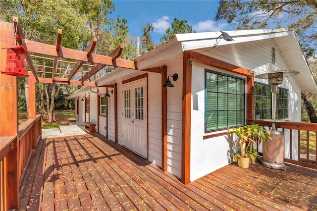
[[[272,126],[262,119],[248,119],[247,123]],[[317,169],[317,123],[285,121],[276,122],[275,127],[284,133],[284,161]]]

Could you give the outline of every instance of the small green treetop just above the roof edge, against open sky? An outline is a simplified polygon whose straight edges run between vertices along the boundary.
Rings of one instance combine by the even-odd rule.
[[[192,26],[186,20],[178,20],[174,18],[170,24],[170,28],[166,29],[165,34],[159,39],[160,42],[165,42],[171,39],[175,34],[192,33]]]

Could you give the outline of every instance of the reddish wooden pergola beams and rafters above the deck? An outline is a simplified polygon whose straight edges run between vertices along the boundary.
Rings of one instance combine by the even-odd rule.
[[[137,65],[134,61],[125,60],[119,58],[121,52],[123,50],[123,45],[117,47],[113,52],[109,53],[109,55],[101,55],[97,53],[93,53],[95,47],[97,45],[97,38],[94,38],[89,46],[84,51],[69,49],[61,47],[61,36],[62,31],[58,29],[56,35],[55,45],[39,43],[31,40],[25,40],[24,34],[22,32],[21,25],[18,21],[17,17],[13,17],[13,24],[17,28],[17,42],[19,45],[23,46],[29,53],[26,54],[26,60],[30,66],[32,73],[35,76],[37,82],[42,83],[56,83],[56,84],[72,84],[72,85],[85,85],[85,86],[96,86],[95,82],[86,82],[91,76],[96,74],[98,71],[103,69],[105,66],[116,66],[116,67],[123,67],[128,69],[135,69],[137,70]],[[47,65],[42,65],[42,67],[49,67],[52,68],[52,78],[43,78],[39,77],[37,71],[34,66],[41,66],[40,64],[34,65],[32,62],[31,54],[36,53],[37,55],[32,55],[34,57],[40,57],[42,59],[49,59],[53,60],[53,66],[49,67]],[[47,57],[51,56],[51,57]],[[53,57],[53,58],[52,58]],[[61,59],[71,59],[75,62],[69,62],[75,64],[72,69],[63,68],[65,72],[63,73],[62,77],[56,77],[57,69],[57,61],[64,62]],[[68,62],[68,61],[65,61]],[[85,63],[91,64],[85,64]],[[80,71],[80,67],[83,65],[92,66],[89,71]],[[69,73],[66,71],[69,70]],[[86,73],[85,75],[77,75],[77,72]],[[42,71],[47,72],[47,71]],[[61,73],[62,74],[62,73]],[[64,76],[67,76],[66,78]],[[78,81],[72,80],[73,76],[80,78]]]

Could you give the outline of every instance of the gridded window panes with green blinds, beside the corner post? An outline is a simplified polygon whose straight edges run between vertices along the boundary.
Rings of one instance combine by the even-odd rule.
[[[245,124],[245,79],[206,69],[205,132]]]

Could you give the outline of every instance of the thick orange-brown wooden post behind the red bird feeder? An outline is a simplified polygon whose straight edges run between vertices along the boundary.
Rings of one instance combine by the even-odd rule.
[[[5,71],[7,50],[15,46],[12,23],[0,21],[0,71]],[[0,137],[18,134],[18,78],[0,74]],[[19,208],[19,143],[16,138],[4,161],[4,210]]]

